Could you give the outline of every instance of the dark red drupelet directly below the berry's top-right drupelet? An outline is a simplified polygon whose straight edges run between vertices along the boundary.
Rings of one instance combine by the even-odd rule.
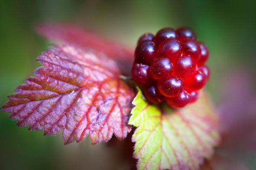
[[[184,40],[182,43],[182,48],[183,48],[183,54],[189,55],[191,58],[195,60],[195,62],[198,61],[200,54],[201,54],[201,49],[194,40]]]

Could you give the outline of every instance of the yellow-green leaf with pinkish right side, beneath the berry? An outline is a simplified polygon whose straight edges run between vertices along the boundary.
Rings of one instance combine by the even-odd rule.
[[[140,170],[197,170],[219,140],[218,121],[203,93],[183,109],[149,105],[141,91],[134,98],[129,124],[137,127],[132,141]]]

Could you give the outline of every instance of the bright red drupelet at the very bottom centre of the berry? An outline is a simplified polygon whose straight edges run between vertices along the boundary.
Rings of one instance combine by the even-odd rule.
[[[173,98],[165,97],[165,101],[169,106],[174,108],[184,107],[190,101],[190,94],[186,90],[183,90],[183,92]]]

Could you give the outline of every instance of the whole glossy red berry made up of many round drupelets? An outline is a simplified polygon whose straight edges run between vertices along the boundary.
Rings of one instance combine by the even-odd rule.
[[[208,58],[207,47],[196,41],[192,29],[164,28],[140,37],[131,74],[151,103],[165,100],[171,107],[184,107],[197,100],[209,80]]]

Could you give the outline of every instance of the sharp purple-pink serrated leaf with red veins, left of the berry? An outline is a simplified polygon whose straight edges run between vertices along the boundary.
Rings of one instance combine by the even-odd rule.
[[[114,61],[95,52],[69,45],[55,46],[38,57],[44,67],[17,87],[3,106],[17,126],[56,135],[64,144],[82,141],[107,142],[112,135],[123,139],[128,125],[133,90],[120,78]]]

